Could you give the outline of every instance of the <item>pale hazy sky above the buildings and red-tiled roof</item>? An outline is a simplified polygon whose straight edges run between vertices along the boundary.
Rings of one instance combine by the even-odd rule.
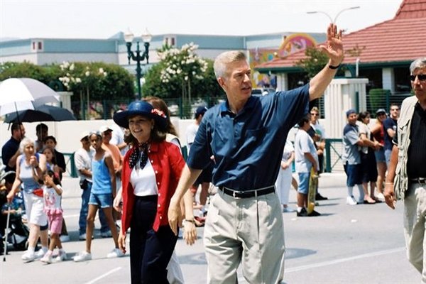
[[[329,19],[357,31],[389,20],[402,0],[280,1],[40,1],[0,0],[0,38],[109,38],[130,28],[141,35],[186,33],[251,35],[325,32]]]

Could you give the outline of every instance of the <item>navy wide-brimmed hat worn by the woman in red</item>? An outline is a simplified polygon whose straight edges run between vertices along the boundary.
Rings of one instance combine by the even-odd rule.
[[[129,116],[141,115],[154,119],[155,125],[160,131],[165,131],[167,126],[167,116],[159,109],[154,109],[151,104],[143,101],[136,101],[129,104],[126,111],[116,112],[114,122],[125,129],[129,128]]]

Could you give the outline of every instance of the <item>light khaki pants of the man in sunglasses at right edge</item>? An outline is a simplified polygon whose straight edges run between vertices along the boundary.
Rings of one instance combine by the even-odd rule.
[[[410,185],[404,199],[404,233],[408,261],[422,273],[422,283],[426,283],[426,187]]]

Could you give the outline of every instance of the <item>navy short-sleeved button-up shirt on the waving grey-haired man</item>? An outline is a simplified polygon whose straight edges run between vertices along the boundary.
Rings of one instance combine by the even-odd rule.
[[[219,104],[204,114],[187,165],[207,168],[214,155],[214,185],[241,191],[274,185],[288,131],[308,111],[309,84],[251,96],[239,114]]]

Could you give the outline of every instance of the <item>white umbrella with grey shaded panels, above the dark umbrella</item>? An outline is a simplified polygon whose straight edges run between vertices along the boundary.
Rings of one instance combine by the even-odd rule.
[[[0,116],[59,102],[58,94],[40,81],[11,78],[0,83]]]

